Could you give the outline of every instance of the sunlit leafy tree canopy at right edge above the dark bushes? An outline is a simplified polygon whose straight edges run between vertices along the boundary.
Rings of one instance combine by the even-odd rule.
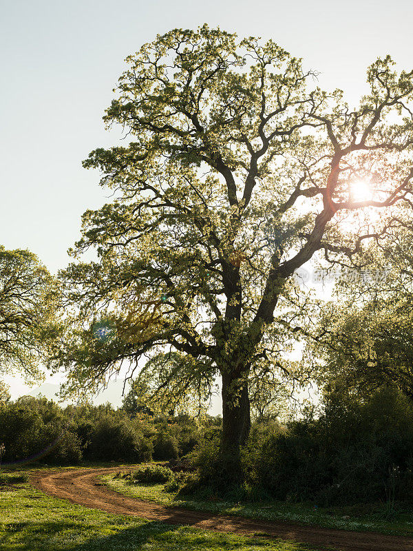
[[[399,209],[376,250],[361,255],[362,264],[373,258],[370,273],[339,281],[308,332],[304,361],[318,363],[315,373],[328,393],[346,388],[367,399],[381,386],[396,386],[412,399],[412,228],[410,209]]]

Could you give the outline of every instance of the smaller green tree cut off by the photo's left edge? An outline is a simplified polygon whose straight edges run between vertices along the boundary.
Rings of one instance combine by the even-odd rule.
[[[52,336],[56,281],[27,250],[0,245],[0,375],[39,380],[39,360]]]

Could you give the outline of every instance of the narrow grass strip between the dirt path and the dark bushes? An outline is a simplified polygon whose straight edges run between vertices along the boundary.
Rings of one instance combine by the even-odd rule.
[[[286,521],[306,526],[413,537],[412,511],[393,512],[392,519],[385,520],[385,505],[380,503],[315,509],[313,503],[284,503],[282,501],[234,503],[219,499],[200,499],[196,496],[184,499],[184,497],[177,497],[176,494],[165,492],[163,484],[129,484],[127,480],[117,479],[112,475],[102,478],[107,486],[116,492],[137,499],[155,501],[165,506],[233,514],[264,521]]]

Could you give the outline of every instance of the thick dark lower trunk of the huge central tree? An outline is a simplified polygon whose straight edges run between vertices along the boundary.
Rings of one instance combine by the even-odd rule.
[[[244,373],[245,376],[245,373]],[[246,444],[251,428],[248,383],[242,375],[222,373],[222,469],[229,482],[242,481],[240,447]]]

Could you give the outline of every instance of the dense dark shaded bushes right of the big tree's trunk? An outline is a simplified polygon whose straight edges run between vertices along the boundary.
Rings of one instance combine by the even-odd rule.
[[[320,419],[252,431],[242,459],[251,487],[328,506],[412,501],[412,449],[413,404],[383,388],[364,403],[332,396]]]

